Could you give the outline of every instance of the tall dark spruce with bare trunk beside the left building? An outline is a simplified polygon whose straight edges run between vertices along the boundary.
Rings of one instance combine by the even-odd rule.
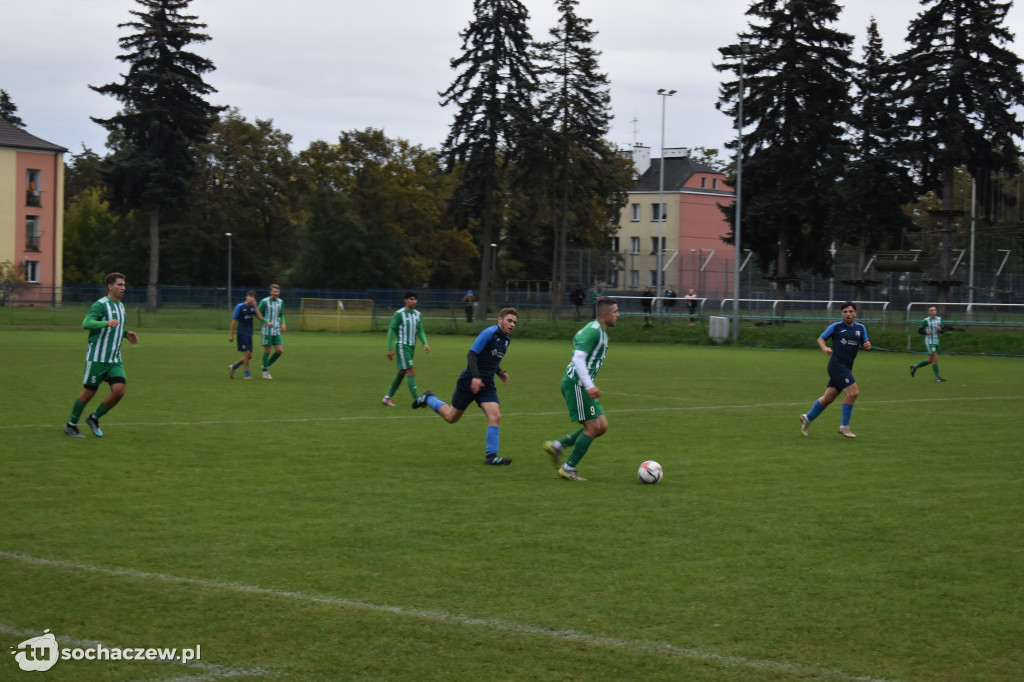
[[[110,119],[93,119],[112,132],[116,148],[104,173],[118,210],[148,215],[150,270],[146,308],[158,307],[161,211],[178,206],[196,173],[195,146],[216,121],[218,108],[204,96],[215,92],[203,81],[213,62],[184,48],[210,37],[205,24],[182,13],[190,0],[136,0],[142,10],[119,28],[133,31],[119,39],[129,65],[121,83],[90,86],[111,95],[124,110]]]

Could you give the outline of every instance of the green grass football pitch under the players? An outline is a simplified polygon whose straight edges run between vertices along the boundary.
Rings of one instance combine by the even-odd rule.
[[[862,352],[858,437],[837,403],[803,438],[816,349],[613,331],[610,428],[570,483],[540,447],[571,427],[567,338],[513,342],[514,464],[484,467],[475,408],[449,425],[404,386],[380,404],[383,334],[290,334],[252,382],[228,380],[226,334],[140,337],[105,437],[73,439],[85,334],[0,331],[0,640],[202,657],[39,679],[1024,677],[1020,358],[943,356],[940,384],[909,377],[921,355]],[[420,389],[447,399],[470,340],[418,350]]]

